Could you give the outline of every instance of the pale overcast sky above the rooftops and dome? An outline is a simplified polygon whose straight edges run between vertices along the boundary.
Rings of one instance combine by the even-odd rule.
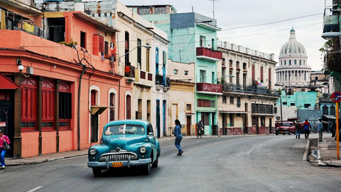
[[[120,0],[125,5],[171,4],[178,13],[195,12],[212,17],[213,8],[210,0]],[[288,18],[323,14],[323,0],[218,0],[215,2],[215,18],[222,29],[271,23]],[[321,38],[323,31],[323,15],[297,18],[290,21],[266,26],[223,30],[218,33],[222,41],[235,43],[239,46],[260,50],[265,53],[278,54],[281,46],[289,39],[291,26],[296,30],[296,38],[303,43],[308,54],[308,65],[312,70],[322,68],[319,48],[325,40]],[[282,31],[279,31],[282,30]],[[276,31],[269,33],[271,31]],[[263,33],[248,36],[256,33]],[[244,37],[242,37],[244,36]]]

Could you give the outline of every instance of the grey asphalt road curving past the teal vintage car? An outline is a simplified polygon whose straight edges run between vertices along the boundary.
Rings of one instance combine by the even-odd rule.
[[[94,178],[87,156],[7,167],[0,191],[341,191],[341,169],[303,161],[305,139],[237,136],[162,142],[158,168],[105,171]]]

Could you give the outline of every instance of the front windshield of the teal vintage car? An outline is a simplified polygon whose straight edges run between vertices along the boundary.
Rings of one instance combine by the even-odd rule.
[[[117,124],[108,126],[104,135],[112,134],[144,134],[144,127],[136,124]]]

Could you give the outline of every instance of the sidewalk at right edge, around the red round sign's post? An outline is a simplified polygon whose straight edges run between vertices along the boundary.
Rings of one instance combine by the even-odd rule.
[[[318,142],[318,165],[341,167],[341,160],[337,159],[336,141],[334,140],[334,137],[332,137],[332,134],[327,134],[323,132],[322,140],[323,142]],[[340,148],[341,148],[341,143],[340,143]],[[340,153],[340,156],[341,156],[341,153]]]

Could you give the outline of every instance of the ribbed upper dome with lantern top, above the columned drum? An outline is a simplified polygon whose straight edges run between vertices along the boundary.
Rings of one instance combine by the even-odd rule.
[[[279,52],[279,58],[307,58],[307,52],[305,51],[302,43],[296,41],[295,30],[291,29],[289,41],[284,43]]]

